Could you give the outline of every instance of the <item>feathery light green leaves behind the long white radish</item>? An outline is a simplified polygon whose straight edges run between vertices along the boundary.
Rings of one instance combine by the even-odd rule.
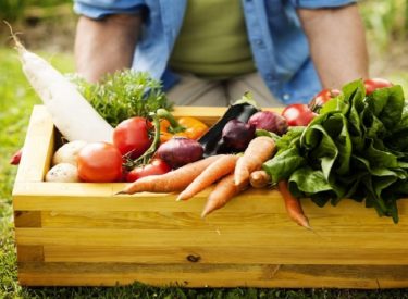
[[[132,116],[147,117],[159,108],[172,109],[161,84],[132,70],[108,74],[100,83],[74,78],[79,91],[113,127]]]

